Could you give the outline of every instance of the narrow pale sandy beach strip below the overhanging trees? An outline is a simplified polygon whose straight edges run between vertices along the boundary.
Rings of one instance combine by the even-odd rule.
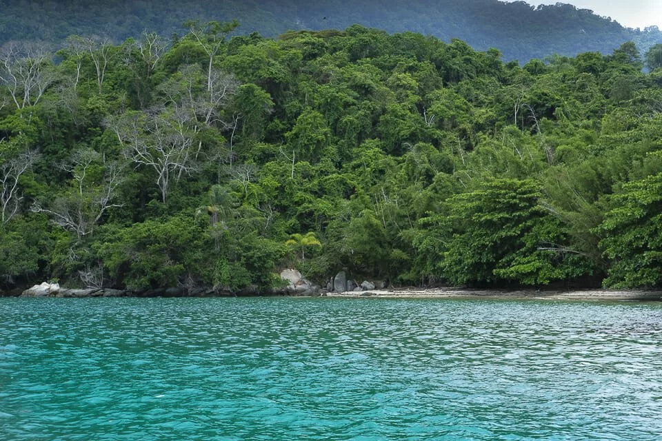
[[[577,289],[499,291],[466,288],[392,288],[370,289],[369,291],[345,291],[323,294],[338,298],[484,298],[484,299],[531,299],[531,300],[630,300],[662,301],[662,291],[628,289]]]

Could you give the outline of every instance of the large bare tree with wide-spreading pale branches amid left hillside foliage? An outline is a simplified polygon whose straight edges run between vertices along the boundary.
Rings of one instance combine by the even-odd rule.
[[[192,117],[181,108],[126,114],[106,121],[126,146],[124,156],[156,172],[163,203],[172,178],[197,170],[200,145],[193,148],[197,127],[191,123]]]

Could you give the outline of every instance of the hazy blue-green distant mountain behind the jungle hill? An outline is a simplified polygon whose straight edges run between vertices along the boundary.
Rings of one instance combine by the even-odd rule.
[[[552,54],[609,53],[625,41],[643,54],[662,43],[656,27],[623,28],[590,10],[556,3],[534,8],[498,0],[0,0],[0,44],[17,39],[59,43],[70,34],[114,41],[142,30],[185,32],[188,19],[241,23],[240,32],[274,37],[287,30],[344,29],[358,23],[388,32],[420,32],[477,50],[497,48],[505,59],[528,61]]]

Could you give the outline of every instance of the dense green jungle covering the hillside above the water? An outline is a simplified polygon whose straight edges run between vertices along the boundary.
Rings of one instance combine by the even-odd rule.
[[[0,63],[5,289],[662,285],[662,45],[188,23]],[[650,72],[644,73],[643,63]]]

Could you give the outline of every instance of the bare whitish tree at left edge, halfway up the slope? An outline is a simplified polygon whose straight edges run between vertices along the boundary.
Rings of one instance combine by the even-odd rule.
[[[36,150],[26,150],[0,163],[0,209],[2,224],[8,223],[19,211],[23,196],[19,189],[19,178],[39,160]]]

